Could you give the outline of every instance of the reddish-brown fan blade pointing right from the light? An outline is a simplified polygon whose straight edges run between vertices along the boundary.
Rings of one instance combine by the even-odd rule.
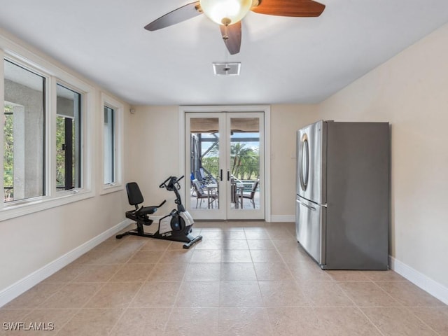
[[[251,10],[255,13],[311,18],[322,14],[325,5],[312,0],[260,0]]]

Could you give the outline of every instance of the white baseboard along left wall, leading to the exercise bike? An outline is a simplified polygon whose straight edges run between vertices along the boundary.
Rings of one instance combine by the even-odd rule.
[[[59,269],[62,269],[66,265],[69,265],[70,262],[78,259],[81,255],[90,251],[98,244],[101,244],[103,241],[105,241],[112,235],[115,235],[120,230],[123,230],[127,227],[127,225],[130,225],[131,223],[132,221],[128,219],[121,223],[118,223],[113,228],[110,228],[109,230],[104,231],[102,234],[97,235],[97,237],[86,241],[84,244],[76,248],[73,248],[73,250],[65,253],[56,260],[53,260],[48,265],[41,267],[41,269],[36,270],[35,272],[25,276],[25,278],[20,279],[16,283],[13,283],[11,286],[8,286],[7,288],[1,290],[0,307],[15,299],[15,297],[18,297],[20,294],[25,293],[27,290],[29,290],[29,288],[36,286],[36,284],[48,278],[48,276],[59,271]]]

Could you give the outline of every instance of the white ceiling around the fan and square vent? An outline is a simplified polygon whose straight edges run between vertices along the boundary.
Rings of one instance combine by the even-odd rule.
[[[319,18],[249,13],[237,55],[204,15],[144,29],[190,2],[0,0],[0,27],[130,104],[200,105],[321,102],[448,22],[447,0],[322,0]]]

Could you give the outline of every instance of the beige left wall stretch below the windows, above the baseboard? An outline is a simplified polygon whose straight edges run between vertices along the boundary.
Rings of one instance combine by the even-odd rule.
[[[95,196],[0,222],[0,293],[123,221],[122,195]]]

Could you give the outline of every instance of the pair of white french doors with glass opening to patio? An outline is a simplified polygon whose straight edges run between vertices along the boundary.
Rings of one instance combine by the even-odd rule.
[[[261,112],[186,113],[193,218],[265,219],[264,125]]]

